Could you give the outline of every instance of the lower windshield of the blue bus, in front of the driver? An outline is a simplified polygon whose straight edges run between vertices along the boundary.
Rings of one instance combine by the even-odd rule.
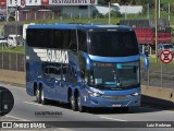
[[[139,61],[92,62],[89,80],[89,85],[97,88],[127,90],[139,86]]]

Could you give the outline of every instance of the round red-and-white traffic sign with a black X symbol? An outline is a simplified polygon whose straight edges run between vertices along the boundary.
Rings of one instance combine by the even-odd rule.
[[[160,55],[160,59],[163,63],[170,63],[173,60],[173,55],[170,50],[163,50]]]

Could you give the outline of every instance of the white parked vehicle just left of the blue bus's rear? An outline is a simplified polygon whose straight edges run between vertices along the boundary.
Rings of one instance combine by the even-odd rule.
[[[24,46],[25,40],[21,35],[9,35],[8,36],[8,46],[9,47],[16,47],[16,46]]]

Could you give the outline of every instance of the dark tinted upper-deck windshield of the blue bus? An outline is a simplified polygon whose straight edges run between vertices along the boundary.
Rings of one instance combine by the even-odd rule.
[[[127,57],[138,55],[138,43],[133,31],[88,32],[88,52],[102,57]]]

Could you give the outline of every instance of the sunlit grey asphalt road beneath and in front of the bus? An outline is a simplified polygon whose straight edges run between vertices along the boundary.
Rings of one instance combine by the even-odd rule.
[[[90,121],[90,123],[98,124],[96,128],[89,126],[89,128],[71,128],[71,127],[62,127],[59,128],[50,128],[42,131],[51,130],[61,130],[61,131],[108,131],[108,130],[122,130],[122,131],[164,131],[170,130],[173,131],[174,128],[126,128],[124,123],[129,121],[138,121],[133,122],[133,124],[141,124],[142,121],[146,121],[146,124],[150,123],[161,123],[160,121],[174,121],[174,111],[170,110],[162,110],[162,109],[154,109],[154,108],[147,108],[147,107],[138,107],[138,108],[130,108],[128,112],[120,112],[114,110],[91,110],[87,112],[78,112],[73,111],[69,108],[67,105],[59,104],[54,102],[50,102],[49,105],[40,105],[37,104],[35,97],[30,97],[26,94],[24,87],[17,87],[12,85],[4,85],[0,84],[9,88],[13,96],[14,96],[14,107],[12,111],[0,118],[0,121],[74,121],[74,124],[82,124],[80,121]],[[38,112],[54,112],[54,115],[40,115]],[[79,121],[79,122],[78,122]],[[97,121],[105,121],[105,122],[97,122]],[[123,124],[121,128],[100,128],[103,124],[108,124],[110,122],[114,122],[115,124]],[[116,123],[117,122],[117,123]],[[50,122],[51,123],[51,122]],[[52,122],[53,123],[53,122]],[[51,124],[54,127],[55,124]],[[85,124],[86,126],[86,124]],[[174,127],[174,122],[172,123]],[[135,126],[136,127],[136,126]],[[7,129],[4,130],[7,131]]]

